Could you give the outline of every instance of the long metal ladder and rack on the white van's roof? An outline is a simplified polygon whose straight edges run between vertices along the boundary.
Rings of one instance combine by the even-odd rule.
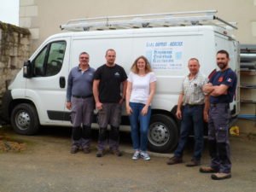
[[[61,30],[67,31],[90,31],[105,29],[142,28],[155,26],[195,26],[214,25],[230,29],[237,27],[230,22],[224,21],[215,14],[217,10],[173,12],[147,15],[120,15],[94,17],[78,20],[68,20],[67,24],[61,25]],[[218,20],[219,23],[214,22]]]

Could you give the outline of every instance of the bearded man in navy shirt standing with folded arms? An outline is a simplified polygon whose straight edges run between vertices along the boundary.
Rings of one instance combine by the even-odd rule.
[[[212,179],[231,177],[229,121],[230,102],[236,92],[236,73],[229,67],[230,56],[226,50],[217,53],[220,71],[212,75],[209,83],[203,87],[210,95],[208,120],[208,145],[211,166],[201,167],[200,172],[213,173]]]

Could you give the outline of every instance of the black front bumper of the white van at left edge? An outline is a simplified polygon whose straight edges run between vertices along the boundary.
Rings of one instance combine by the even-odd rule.
[[[0,118],[1,121],[5,121],[9,123],[10,121],[10,103],[13,101],[13,97],[11,95],[11,90],[7,90],[3,94],[2,106],[0,108]]]

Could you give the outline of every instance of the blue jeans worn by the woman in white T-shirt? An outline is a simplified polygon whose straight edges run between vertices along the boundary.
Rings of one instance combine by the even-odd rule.
[[[151,107],[148,107],[148,113],[142,115],[145,104],[130,102],[132,113],[130,115],[131,139],[134,149],[141,151],[147,150],[148,145],[148,126],[151,116]]]

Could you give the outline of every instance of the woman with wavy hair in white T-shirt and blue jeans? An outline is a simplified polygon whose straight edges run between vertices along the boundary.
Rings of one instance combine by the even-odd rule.
[[[148,59],[139,56],[131,66],[126,90],[126,112],[130,115],[131,139],[135,150],[132,160],[140,157],[150,160],[147,153],[148,126],[155,83],[156,78]]]

